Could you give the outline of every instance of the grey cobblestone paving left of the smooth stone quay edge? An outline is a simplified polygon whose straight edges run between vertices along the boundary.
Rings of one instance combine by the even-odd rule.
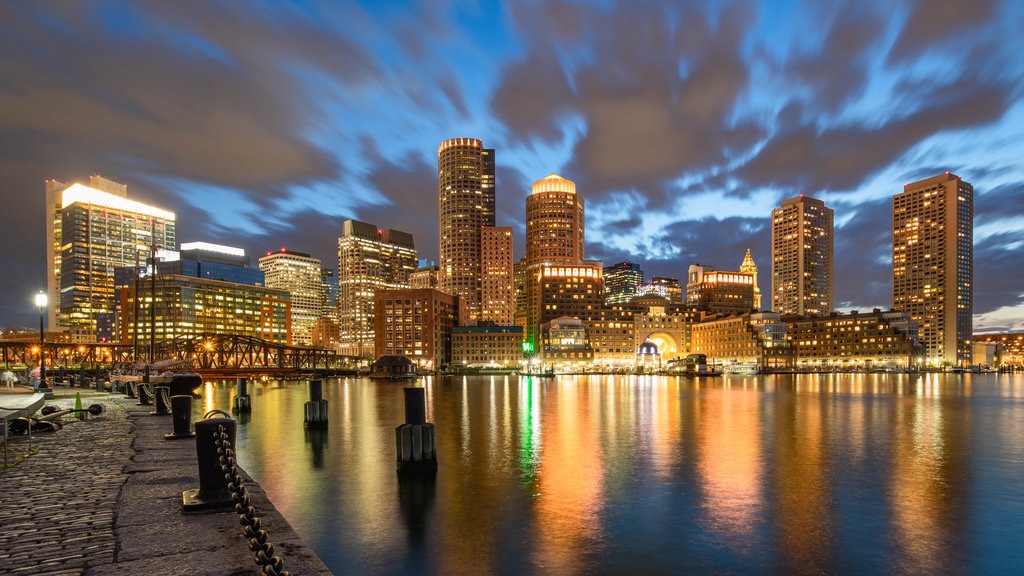
[[[60,394],[47,404],[73,408],[74,397]],[[120,402],[99,403],[104,414],[63,416],[62,429],[33,434],[37,453],[0,469],[0,573],[82,574],[114,562],[114,513],[134,454],[132,426]],[[10,437],[9,462],[28,452],[28,437]]]

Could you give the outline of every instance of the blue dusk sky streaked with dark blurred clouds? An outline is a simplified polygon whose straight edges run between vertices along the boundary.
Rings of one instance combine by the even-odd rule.
[[[44,180],[101,174],[178,241],[337,265],[341,222],[437,257],[443,139],[497,149],[521,253],[551,172],[587,256],[770,288],[770,213],[836,212],[840,311],[891,305],[891,197],[975,187],[975,328],[1024,330],[1024,2],[0,3],[0,326],[38,322]]]

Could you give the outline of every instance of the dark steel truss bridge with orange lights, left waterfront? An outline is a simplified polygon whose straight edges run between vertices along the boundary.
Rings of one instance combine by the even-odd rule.
[[[39,342],[0,341],[5,370],[39,365]],[[334,351],[289,346],[250,336],[203,334],[173,340],[128,343],[44,342],[46,370],[100,369],[116,364],[179,361],[204,375],[349,373],[366,359]]]

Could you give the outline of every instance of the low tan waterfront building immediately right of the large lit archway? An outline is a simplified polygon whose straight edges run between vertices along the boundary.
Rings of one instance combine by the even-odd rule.
[[[709,317],[692,327],[693,354],[709,364],[757,363],[760,368],[792,368],[793,348],[778,313],[757,312]]]

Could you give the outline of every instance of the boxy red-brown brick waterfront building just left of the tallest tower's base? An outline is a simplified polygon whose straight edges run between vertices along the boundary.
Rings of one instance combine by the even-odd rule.
[[[452,362],[452,330],[466,324],[459,296],[432,288],[378,290],[374,295],[374,358],[402,356],[424,370]]]

